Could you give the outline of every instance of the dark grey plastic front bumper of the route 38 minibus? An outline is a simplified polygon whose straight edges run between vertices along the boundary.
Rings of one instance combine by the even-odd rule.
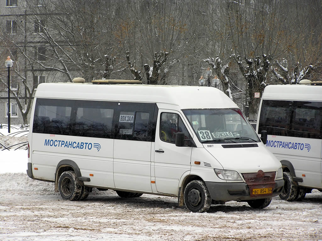
[[[276,180],[270,194],[251,195],[248,184],[244,182],[205,182],[210,196],[216,201],[247,201],[252,199],[272,198],[279,195],[284,186],[284,180]]]

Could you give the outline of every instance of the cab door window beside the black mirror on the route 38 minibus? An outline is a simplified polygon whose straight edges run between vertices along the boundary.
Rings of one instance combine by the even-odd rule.
[[[167,112],[161,113],[160,139],[175,144],[175,134],[177,132],[184,132],[185,139],[190,138],[189,132],[178,114]]]

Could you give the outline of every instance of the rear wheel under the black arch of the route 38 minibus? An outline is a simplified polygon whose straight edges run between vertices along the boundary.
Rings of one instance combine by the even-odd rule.
[[[75,201],[81,198],[82,186],[74,171],[65,171],[59,177],[58,190],[64,200]]]

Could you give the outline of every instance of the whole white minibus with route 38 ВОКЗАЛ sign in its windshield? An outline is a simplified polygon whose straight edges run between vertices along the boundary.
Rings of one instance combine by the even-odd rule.
[[[131,82],[40,84],[28,176],[54,182],[65,200],[111,189],[177,197],[193,212],[232,200],[264,208],[280,194],[282,166],[265,131],[262,142],[223,92]]]

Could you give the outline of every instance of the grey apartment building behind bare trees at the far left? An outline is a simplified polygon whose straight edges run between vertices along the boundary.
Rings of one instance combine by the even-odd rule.
[[[14,61],[10,68],[11,125],[29,123],[38,84],[79,76],[69,70],[66,75],[53,56],[48,34],[54,29],[47,25],[51,14],[48,9],[43,11],[45,7],[45,0],[0,0],[0,124],[8,120],[7,56]]]

